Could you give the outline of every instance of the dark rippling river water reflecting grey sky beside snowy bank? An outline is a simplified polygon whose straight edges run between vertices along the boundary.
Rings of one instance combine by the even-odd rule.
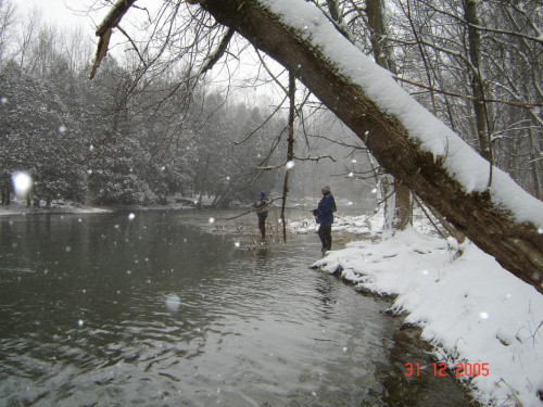
[[[154,211],[0,218],[0,406],[469,406],[390,302]],[[217,225],[217,222],[215,224]]]

